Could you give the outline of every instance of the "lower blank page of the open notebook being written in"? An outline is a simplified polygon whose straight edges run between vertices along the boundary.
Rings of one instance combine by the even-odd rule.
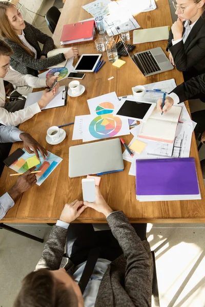
[[[149,118],[147,122],[141,124],[138,137],[172,143],[175,138],[176,126],[176,122],[173,121]]]

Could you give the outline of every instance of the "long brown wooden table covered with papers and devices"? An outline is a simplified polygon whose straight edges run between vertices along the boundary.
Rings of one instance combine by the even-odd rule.
[[[63,25],[91,17],[89,13],[81,8],[82,5],[87,3],[89,3],[89,0],[66,1],[53,34],[57,48],[60,47],[59,38]],[[140,13],[135,16],[142,28],[172,25],[168,0],[157,0],[156,5],[157,9],[154,11]],[[160,46],[165,51],[166,45],[167,41],[156,41],[139,44],[135,50],[144,51]],[[79,43],[77,47],[80,54],[97,53],[94,42]],[[2,222],[55,223],[66,203],[75,199],[82,200],[81,178],[70,179],[68,177],[69,147],[81,144],[82,141],[72,141],[73,126],[67,126],[65,127],[66,139],[58,145],[49,145],[46,142],[46,133],[50,126],[72,122],[76,115],[89,114],[87,99],[96,96],[113,91],[116,92],[117,96],[130,95],[132,94],[132,86],[171,78],[175,79],[177,85],[183,82],[182,73],[178,72],[176,68],[172,71],[146,78],[137,70],[129,57],[123,58],[126,64],[120,69],[108,62],[106,52],[103,54],[103,59],[106,60],[106,64],[98,73],[86,73],[85,78],[80,80],[80,83],[86,87],[86,92],[83,95],[77,98],[68,96],[67,106],[43,111],[20,125],[20,129],[30,133],[47,150],[62,157],[63,161],[40,187],[35,185],[23,193],[15,206],[8,211]],[[114,79],[108,81],[111,76],[114,76]],[[70,81],[71,79],[64,79],[60,84],[68,85]],[[186,105],[189,109],[188,103]],[[124,137],[127,144],[132,137],[132,135]],[[19,146],[23,146],[23,143],[13,144],[11,151],[14,151]],[[138,202],[135,196],[135,177],[128,176],[131,164],[127,161],[124,161],[125,170],[123,172],[106,174],[101,177],[101,193],[114,210],[123,210],[133,223],[205,222],[205,192],[194,134],[192,136],[190,157],[194,157],[196,161],[201,200]],[[9,176],[10,173],[13,173],[13,171],[5,167],[0,184],[3,192],[7,191],[16,181],[15,177]],[[105,223],[105,221],[103,214],[88,208],[76,222]]]

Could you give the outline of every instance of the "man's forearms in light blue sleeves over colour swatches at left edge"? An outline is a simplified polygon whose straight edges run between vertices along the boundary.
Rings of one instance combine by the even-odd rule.
[[[0,126],[0,143],[7,143],[7,142],[13,143],[17,141],[23,141],[24,148],[29,153],[31,153],[33,150],[33,152],[37,157],[38,157],[37,150],[40,151],[40,153],[45,159],[46,156],[48,156],[46,149],[40,146],[40,144],[38,144],[38,142],[34,140],[28,133],[24,133],[23,131],[20,131],[16,127]],[[3,155],[1,155],[1,163],[3,165],[3,159],[6,157],[4,158],[2,157]],[[0,220],[5,216],[7,211],[14,206],[14,203],[17,200],[17,198],[20,196],[20,194],[31,188],[36,183],[35,173],[31,174],[31,172],[34,169],[35,166],[27,170],[22,176],[19,176],[15,185],[0,197]]]

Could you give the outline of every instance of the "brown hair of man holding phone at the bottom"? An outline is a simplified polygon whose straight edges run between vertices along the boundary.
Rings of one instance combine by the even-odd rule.
[[[28,274],[13,307],[77,307],[77,296],[72,288],[56,280],[51,271],[40,269]]]

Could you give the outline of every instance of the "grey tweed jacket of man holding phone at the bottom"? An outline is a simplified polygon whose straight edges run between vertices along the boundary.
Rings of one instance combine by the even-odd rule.
[[[110,214],[107,221],[123,254],[112,261],[105,272],[95,307],[151,306],[153,262],[149,243],[141,242],[122,211]],[[58,270],[67,262],[67,272],[73,274],[73,263],[63,257],[66,236],[66,229],[53,227],[36,270]]]

